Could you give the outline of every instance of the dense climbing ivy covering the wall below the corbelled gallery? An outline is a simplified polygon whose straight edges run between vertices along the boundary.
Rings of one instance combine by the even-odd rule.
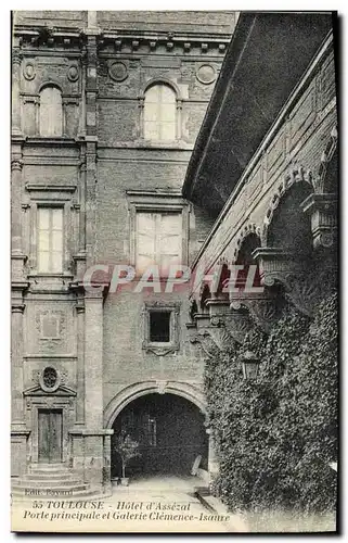
[[[240,356],[261,361],[244,380]],[[337,455],[337,296],[312,319],[291,305],[269,336],[254,329],[243,345],[207,361],[205,387],[220,473],[214,491],[233,509],[332,508]]]

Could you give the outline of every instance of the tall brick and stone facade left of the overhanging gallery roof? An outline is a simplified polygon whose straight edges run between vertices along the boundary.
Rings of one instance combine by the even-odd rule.
[[[232,12],[13,14],[14,493],[36,479],[60,491],[67,473],[75,495],[107,492],[115,425],[142,396],[170,396],[181,414],[176,399],[191,404],[204,429],[188,292],[164,295],[162,282],[160,292],[113,293],[103,273],[86,290],[83,276],[130,264],[138,277],[199,251],[214,216],[181,187],[236,21]],[[150,445],[165,442],[168,421],[160,430],[146,417],[138,425]]]

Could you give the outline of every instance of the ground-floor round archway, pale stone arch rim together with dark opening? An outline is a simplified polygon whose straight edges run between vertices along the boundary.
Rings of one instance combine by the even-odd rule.
[[[146,381],[127,387],[105,409],[106,425],[115,435],[126,430],[139,442],[141,457],[130,463],[132,475],[189,476],[199,455],[201,470],[208,472],[205,402],[199,389],[192,384]],[[112,477],[119,477],[119,456],[113,446],[111,470]]]

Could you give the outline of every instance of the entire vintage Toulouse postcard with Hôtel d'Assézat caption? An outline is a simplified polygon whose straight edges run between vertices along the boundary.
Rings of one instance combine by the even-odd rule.
[[[337,532],[337,14],[15,11],[15,532]]]

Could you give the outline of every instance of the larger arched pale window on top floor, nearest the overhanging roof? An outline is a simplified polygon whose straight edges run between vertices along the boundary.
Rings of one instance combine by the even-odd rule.
[[[144,138],[172,141],[177,132],[177,97],[168,85],[154,85],[145,92]]]

